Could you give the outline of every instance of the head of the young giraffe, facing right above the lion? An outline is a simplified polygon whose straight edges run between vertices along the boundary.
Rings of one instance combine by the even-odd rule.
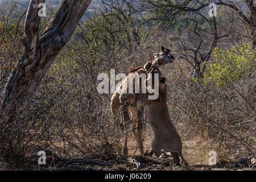
[[[156,66],[173,63],[174,62],[174,55],[170,53],[170,49],[161,47],[162,51],[158,53],[153,53],[155,60],[152,61],[152,64]]]

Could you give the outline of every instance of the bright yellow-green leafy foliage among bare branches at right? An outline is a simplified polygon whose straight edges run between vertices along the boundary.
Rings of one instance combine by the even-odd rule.
[[[215,82],[218,86],[225,86],[228,82],[238,80],[249,74],[251,60],[255,55],[249,44],[233,47],[228,50],[216,48],[213,51],[214,63],[208,65],[205,82]]]

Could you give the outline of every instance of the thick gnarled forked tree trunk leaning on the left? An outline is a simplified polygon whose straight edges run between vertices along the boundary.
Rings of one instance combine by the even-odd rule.
[[[3,89],[0,106],[2,112],[12,111],[17,104],[31,99],[57,53],[71,38],[90,1],[63,0],[40,37],[38,5],[44,0],[30,1],[22,38],[24,52]]]

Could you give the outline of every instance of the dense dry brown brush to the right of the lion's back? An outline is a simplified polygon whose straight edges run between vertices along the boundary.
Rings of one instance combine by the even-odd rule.
[[[170,75],[167,96],[171,118],[183,138],[200,137],[208,143],[203,149],[212,148],[219,156],[255,153],[255,77],[218,87],[184,75]]]

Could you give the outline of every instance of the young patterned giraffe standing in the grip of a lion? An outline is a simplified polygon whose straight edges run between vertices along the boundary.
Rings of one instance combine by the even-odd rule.
[[[122,149],[118,148],[118,154],[121,154],[121,152],[123,152],[124,155],[128,154],[126,125],[129,125],[130,123],[134,138],[139,146],[139,152],[141,155],[144,154],[142,114],[145,107],[143,100],[145,100],[147,94],[135,93],[134,90],[132,93],[127,93],[127,90],[129,89],[129,85],[127,84],[127,82],[133,79],[140,79],[139,75],[141,73],[146,74],[152,72],[159,73],[159,81],[165,81],[166,78],[164,78],[163,74],[158,68],[160,67],[160,65],[172,63],[174,61],[174,56],[171,55],[170,49],[166,49],[164,47],[161,47],[161,49],[161,52],[153,54],[155,57],[154,60],[147,62],[144,66],[131,69],[126,79],[123,80],[123,82],[117,87],[112,96],[110,104],[112,107],[112,112],[117,118],[119,106],[121,107],[123,127],[125,130],[124,147]],[[131,119],[129,117],[128,110],[131,113]],[[117,127],[119,128],[119,123],[117,123]]]

